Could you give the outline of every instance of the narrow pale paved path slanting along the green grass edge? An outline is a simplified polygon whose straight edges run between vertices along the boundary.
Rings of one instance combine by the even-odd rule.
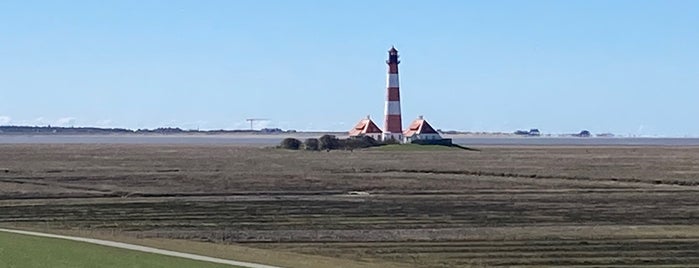
[[[83,238],[83,237],[76,237],[76,236],[65,236],[65,235],[54,235],[54,234],[20,231],[20,230],[3,229],[3,228],[0,228],[0,232],[8,232],[8,233],[15,233],[15,234],[22,234],[22,235],[33,235],[33,236],[41,236],[41,237],[48,237],[48,238],[66,239],[66,240],[85,242],[85,243],[97,244],[97,245],[108,246],[108,247],[123,248],[123,249],[128,249],[128,250],[136,250],[136,251],[147,252],[147,253],[155,253],[155,254],[160,254],[160,255],[167,255],[167,256],[173,256],[173,257],[192,259],[192,260],[197,260],[197,261],[230,264],[230,265],[235,265],[235,266],[239,266],[239,267],[246,267],[246,268],[281,268],[278,266],[269,266],[269,265],[264,265],[264,264],[251,263],[251,262],[241,262],[241,261],[219,259],[219,258],[214,258],[214,257],[207,257],[207,256],[202,256],[202,255],[183,253],[183,252],[177,252],[177,251],[170,251],[170,250],[164,250],[164,249],[157,249],[157,248],[151,248],[151,247],[144,247],[144,246],[139,246],[139,245],[134,245],[134,244],[127,244],[127,243],[100,240],[100,239]]]

